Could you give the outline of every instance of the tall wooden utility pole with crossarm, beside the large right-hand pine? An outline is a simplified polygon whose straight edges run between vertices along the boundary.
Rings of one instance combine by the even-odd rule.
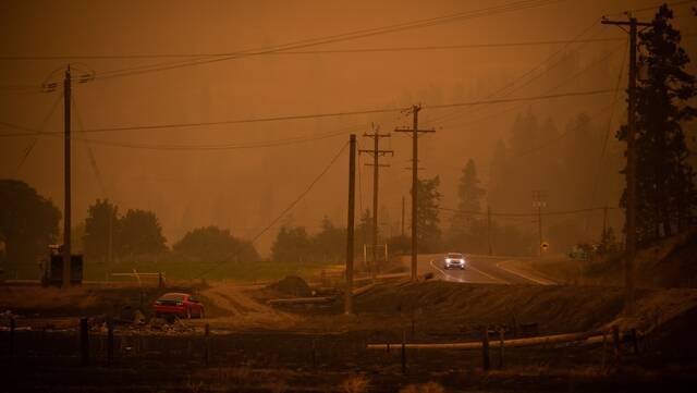
[[[624,257],[625,311],[634,314],[634,257],[636,255],[636,34],[637,26],[651,26],[648,22],[637,22],[629,16],[628,21],[603,20],[603,25],[629,26],[629,82],[627,87],[627,165],[626,176],[626,211],[625,233],[626,246]],[[624,29],[624,28],[623,28]]]

